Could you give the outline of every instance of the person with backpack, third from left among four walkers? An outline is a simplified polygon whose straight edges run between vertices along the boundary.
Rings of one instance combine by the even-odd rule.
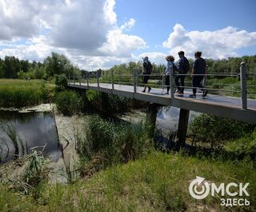
[[[175,84],[177,86],[177,92],[178,94],[184,94],[184,86],[185,86],[185,75],[179,75],[179,74],[186,74],[190,70],[190,62],[188,59],[184,56],[184,51],[179,51],[178,56],[178,75],[174,78]]]

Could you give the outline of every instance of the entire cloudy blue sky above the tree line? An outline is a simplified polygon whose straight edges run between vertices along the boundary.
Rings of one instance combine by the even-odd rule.
[[[255,0],[0,0],[0,58],[43,61],[52,51],[86,70],[148,55],[256,54]]]

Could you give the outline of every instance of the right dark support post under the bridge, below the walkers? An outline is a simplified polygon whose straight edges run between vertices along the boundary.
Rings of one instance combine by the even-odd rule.
[[[180,149],[186,143],[186,131],[190,117],[190,110],[180,109],[178,119],[178,143],[177,148]]]

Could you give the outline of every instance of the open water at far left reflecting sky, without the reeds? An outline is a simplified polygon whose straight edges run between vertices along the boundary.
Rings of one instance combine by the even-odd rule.
[[[18,134],[25,142],[29,153],[30,148],[34,146],[45,146],[43,154],[49,157],[52,161],[57,161],[61,156],[61,150],[58,146],[58,134],[55,128],[54,118],[50,112],[30,112],[18,113],[17,111],[2,111],[0,110],[0,122],[7,123],[17,130]],[[0,134],[4,142],[0,142],[0,157],[5,158],[2,162],[6,162],[14,158],[14,145],[10,138],[0,128]],[[8,147],[6,146],[8,145]],[[9,155],[6,156],[6,151],[10,149]],[[38,148],[42,150],[42,148]],[[0,161],[1,162],[1,161]]]

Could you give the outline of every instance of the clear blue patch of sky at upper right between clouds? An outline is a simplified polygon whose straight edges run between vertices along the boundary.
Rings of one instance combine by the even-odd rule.
[[[144,38],[152,49],[161,46],[176,23],[182,24],[186,30],[212,31],[234,26],[240,30],[256,31],[255,0],[117,0],[115,11],[119,25],[130,17],[136,20],[130,34]],[[255,54],[256,45],[239,52]]]

